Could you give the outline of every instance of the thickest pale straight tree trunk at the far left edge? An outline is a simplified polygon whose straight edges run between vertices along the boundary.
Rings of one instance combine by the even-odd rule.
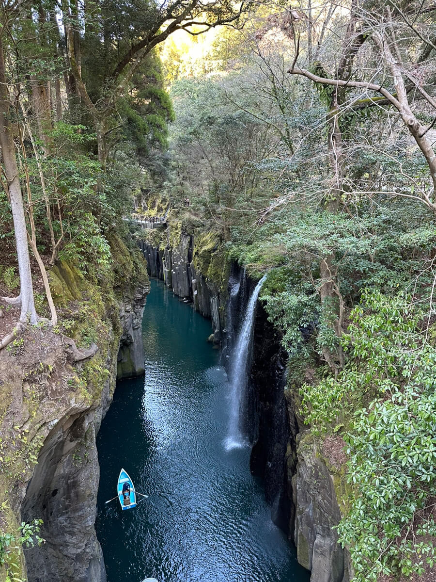
[[[0,35],[0,145],[5,166],[5,174],[8,180],[10,205],[12,207],[13,226],[17,247],[18,269],[20,274],[20,321],[38,322],[33,299],[32,274],[30,269],[30,256],[27,244],[26,217],[24,215],[23,195],[18,177],[17,160],[15,157],[15,144],[12,137],[12,128],[9,120],[9,91],[6,81],[5,59],[3,55],[3,42]]]

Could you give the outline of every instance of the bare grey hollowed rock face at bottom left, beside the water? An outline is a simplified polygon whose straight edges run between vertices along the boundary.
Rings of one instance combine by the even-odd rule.
[[[67,411],[48,434],[22,505],[23,521],[42,519],[45,544],[27,550],[29,582],[105,582],[95,533],[99,482],[96,432],[105,406]]]

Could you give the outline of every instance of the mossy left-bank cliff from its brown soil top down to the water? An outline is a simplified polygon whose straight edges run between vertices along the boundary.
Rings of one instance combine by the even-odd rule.
[[[3,400],[0,442],[13,434],[10,450],[3,449],[8,463],[0,467],[11,509],[9,515],[0,514],[2,527],[16,531],[19,521],[44,520],[45,544],[26,551],[30,582],[106,580],[94,529],[95,437],[117,371],[119,377],[144,371],[140,324],[149,291],[140,253],[132,256],[116,237],[110,244],[115,275],[104,287],[85,279],[74,265],[59,264],[52,272],[61,322],[66,314],[69,326],[74,321],[64,333],[74,337],[78,349],[92,339],[97,354],[76,362],[65,349],[62,330],[33,330],[21,353],[3,354],[0,361],[0,387],[10,395]],[[19,574],[26,578],[25,570]]]

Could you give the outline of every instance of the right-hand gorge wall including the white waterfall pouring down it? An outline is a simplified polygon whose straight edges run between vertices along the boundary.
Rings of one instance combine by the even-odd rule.
[[[298,561],[312,570],[312,581],[346,582],[348,558],[334,529],[341,519],[338,499],[340,503],[346,487],[344,459],[339,457],[338,464],[330,450],[319,450],[302,418],[296,416],[295,395],[287,387],[281,332],[268,321],[262,304],[255,309],[262,283],[256,286],[244,268],[234,263],[223,269],[224,281],[210,281],[210,266],[221,261],[217,242],[208,250],[209,262],[202,264],[206,275],[199,270],[204,257],[201,248],[195,253],[192,235],[182,234],[176,249],[162,251],[145,242],[140,247],[150,275],[192,301],[194,310],[206,317],[215,311],[210,339],[223,339],[222,361],[233,398],[226,447],[242,446],[244,438],[251,443],[250,468],[262,478],[271,519],[295,543]],[[192,264],[193,257],[197,263]],[[249,317],[244,321],[248,311],[255,316],[252,322]]]

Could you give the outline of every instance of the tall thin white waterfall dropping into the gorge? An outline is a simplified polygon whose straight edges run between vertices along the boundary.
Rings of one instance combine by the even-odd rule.
[[[230,423],[226,438],[226,449],[241,448],[245,445],[244,437],[240,428],[241,405],[244,398],[247,377],[248,377],[248,356],[250,353],[251,340],[253,336],[253,322],[256,313],[256,301],[258,300],[260,289],[265,281],[266,275],[260,279],[255,290],[250,297],[244,313],[241,331],[235,342],[235,347],[231,357],[230,365]]]

